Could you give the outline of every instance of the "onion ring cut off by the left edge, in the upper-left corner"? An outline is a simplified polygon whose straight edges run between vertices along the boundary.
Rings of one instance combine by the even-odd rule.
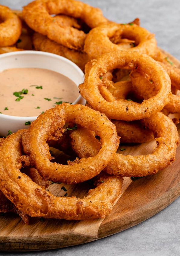
[[[0,5],[0,46],[9,46],[18,40],[21,35],[22,24],[8,7]]]

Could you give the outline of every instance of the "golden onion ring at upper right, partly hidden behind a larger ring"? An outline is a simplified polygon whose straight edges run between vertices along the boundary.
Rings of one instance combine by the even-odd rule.
[[[135,41],[135,47],[126,50],[141,52],[150,56],[154,56],[156,53],[156,39],[154,34],[151,34],[145,28],[139,27],[136,24],[123,25],[115,23],[103,24],[93,28],[85,39],[84,51],[91,59],[97,59],[104,53],[115,50],[125,50],[123,45],[115,44],[117,40],[113,40],[114,37],[128,38]]]

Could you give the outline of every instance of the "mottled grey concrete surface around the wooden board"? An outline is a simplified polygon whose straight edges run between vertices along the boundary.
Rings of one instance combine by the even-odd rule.
[[[0,0],[19,9],[28,0]],[[141,26],[156,34],[158,45],[180,59],[179,0],[84,0],[99,7],[110,20],[126,23],[139,17]],[[0,253],[36,256],[175,256],[180,255],[180,197],[150,219],[118,234],[90,242],[43,252]]]

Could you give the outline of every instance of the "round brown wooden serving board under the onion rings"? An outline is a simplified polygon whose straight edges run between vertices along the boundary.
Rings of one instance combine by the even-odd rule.
[[[169,56],[176,66],[180,62]],[[178,126],[180,133],[180,126]],[[141,145],[120,145],[124,155],[148,154],[153,151],[155,141]],[[59,152],[55,152],[56,156]],[[128,229],[158,213],[180,195],[180,146],[176,161],[155,175],[132,181],[125,177],[122,195],[116,200],[112,212],[104,219],[67,221],[59,219],[32,218],[25,225],[20,217],[6,213],[0,217],[1,251],[38,251],[62,248],[90,242]],[[62,158],[62,155],[59,156]],[[63,156],[66,160],[66,158]],[[64,186],[67,192],[61,189]],[[90,188],[88,182],[76,185],[51,184],[50,192],[56,196],[84,197]]]

